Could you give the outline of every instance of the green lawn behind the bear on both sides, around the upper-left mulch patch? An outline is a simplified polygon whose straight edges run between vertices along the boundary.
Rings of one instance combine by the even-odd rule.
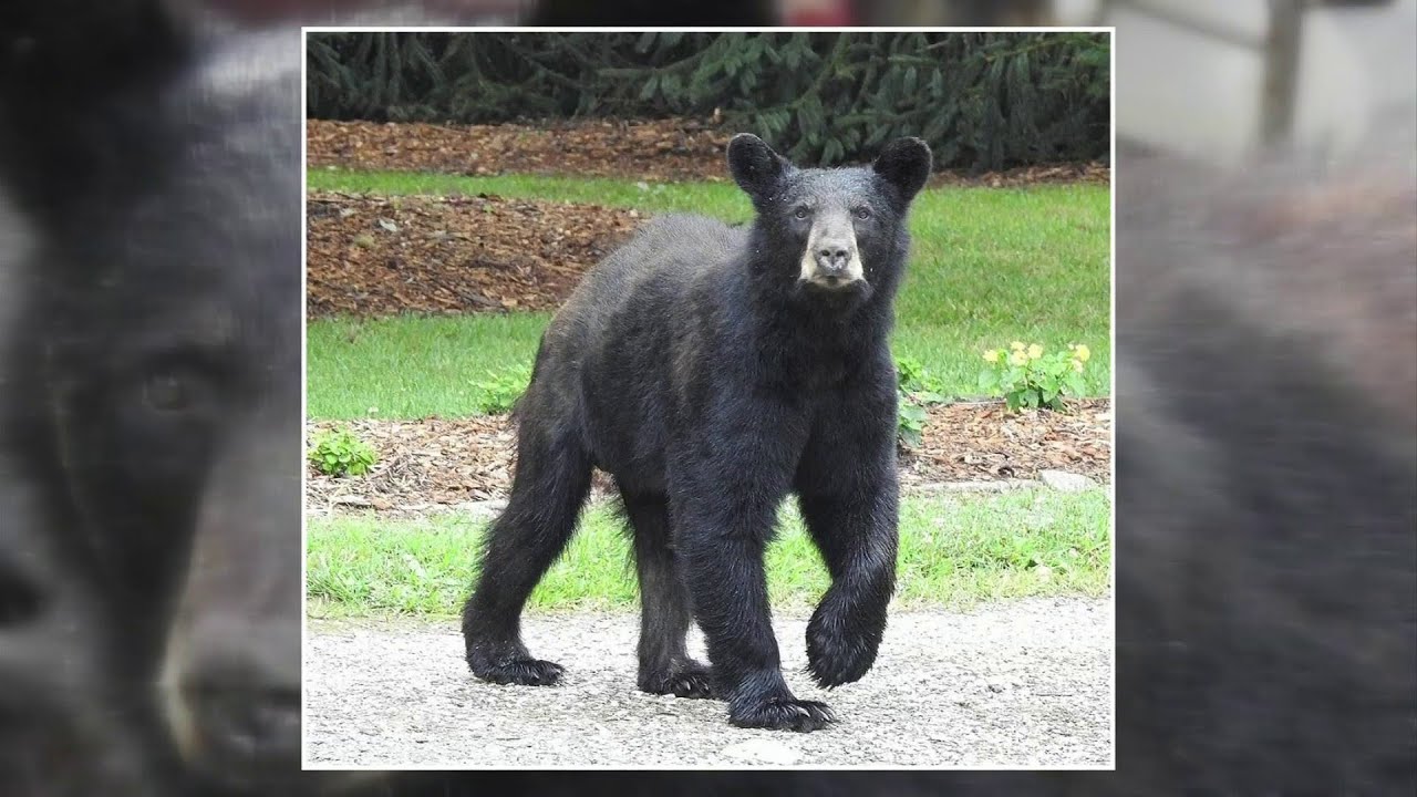
[[[463,177],[312,172],[312,189],[496,193],[689,210],[744,220],[731,183],[655,184],[577,177]],[[920,360],[948,393],[972,396],[979,355],[1022,339],[1049,349],[1087,343],[1090,393],[1108,393],[1108,190],[1102,186],[935,189],[911,216],[914,252],[901,291],[894,347]],[[417,418],[482,411],[489,372],[526,369],[547,313],[322,319],[309,333],[309,408],[316,418]]]

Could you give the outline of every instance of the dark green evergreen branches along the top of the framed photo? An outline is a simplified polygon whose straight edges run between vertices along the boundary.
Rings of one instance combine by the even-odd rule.
[[[832,166],[915,135],[941,167],[1095,159],[1110,41],[1088,33],[339,33],[310,37],[312,118],[708,118]]]

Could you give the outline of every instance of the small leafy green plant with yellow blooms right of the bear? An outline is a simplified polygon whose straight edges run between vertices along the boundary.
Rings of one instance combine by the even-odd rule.
[[[1007,350],[983,353],[988,364],[979,372],[979,389],[990,396],[1002,394],[1010,413],[1043,407],[1061,411],[1064,397],[1087,390],[1083,372],[1091,356],[1083,343],[1068,345],[1067,352],[1044,352],[1039,343],[1015,340]]]

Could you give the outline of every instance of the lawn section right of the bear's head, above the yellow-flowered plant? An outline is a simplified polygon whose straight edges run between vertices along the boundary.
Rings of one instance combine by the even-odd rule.
[[[1090,394],[1108,394],[1108,203],[1098,186],[922,194],[896,353],[918,359],[949,393],[976,394],[985,349],[1087,343]]]

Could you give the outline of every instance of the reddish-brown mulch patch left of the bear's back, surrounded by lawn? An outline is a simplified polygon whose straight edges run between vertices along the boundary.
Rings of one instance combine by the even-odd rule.
[[[310,194],[306,216],[310,318],[555,309],[645,218],[495,196],[339,193]]]

